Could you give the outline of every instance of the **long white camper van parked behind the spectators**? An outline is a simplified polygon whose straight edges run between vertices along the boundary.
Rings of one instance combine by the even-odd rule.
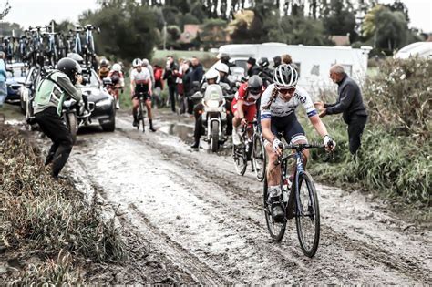
[[[367,59],[370,46],[354,49],[349,46],[303,46],[283,43],[234,44],[219,48],[219,53],[226,53],[237,66],[246,69],[246,61],[252,56],[257,59],[267,57],[273,63],[274,56],[289,54],[300,70],[299,86],[312,95],[318,95],[324,89],[334,89],[329,77],[329,70],[334,64],[345,67],[346,73],[358,82],[365,80]],[[273,64],[271,64],[273,66]]]

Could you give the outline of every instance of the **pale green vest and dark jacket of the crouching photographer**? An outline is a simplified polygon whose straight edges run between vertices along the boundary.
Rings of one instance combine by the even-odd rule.
[[[81,89],[74,87],[65,73],[54,71],[46,75],[36,87],[36,97],[33,103],[34,113],[40,113],[46,108],[57,108],[58,116],[61,115],[63,102],[67,97],[80,101]]]

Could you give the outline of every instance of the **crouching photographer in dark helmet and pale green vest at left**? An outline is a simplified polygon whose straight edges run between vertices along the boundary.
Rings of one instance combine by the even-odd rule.
[[[74,87],[81,82],[81,66],[77,61],[66,57],[60,59],[56,69],[42,78],[36,87],[33,103],[35,120],[53,142],[45,165],[53,163],[51,175],[54,179],[58,179],[58,173],[65,166],[73,146],[70,131],[61,118],[63,102],[67,97],[72,97],[77,102],[82,100],[81,90]]]

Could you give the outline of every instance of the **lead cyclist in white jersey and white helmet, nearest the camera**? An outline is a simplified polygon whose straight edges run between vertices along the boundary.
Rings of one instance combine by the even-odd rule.
[[[295,109],[301,104],[318,134],[324,138],[326,149],[334,149],[335,142],[327,133],[319,118],[309,94],[296,87],[299,74],[293,65],[280,65],[274,69],[273,84],[267,87],[261,99],[261,125],[264,145],[268,155],[267,184],[268,201],[272,205],[272,216],[275,221],[283,220],[284,213],[281,202],[280,186],[281,169],[276,165],[278,156],[282,154],[282,142],[278,133],[289,144],[307,143],[304,130],[295,116]],[[306,167],[309,151],[303,151],[303,166]]]

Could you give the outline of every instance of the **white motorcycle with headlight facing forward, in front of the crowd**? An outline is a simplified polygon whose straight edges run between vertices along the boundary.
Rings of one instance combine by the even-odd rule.
[[[203,96],[201,92],[196,92],[192,96],[194,99],[202,99],[202,125],[207,128],[204,141],[209,142],[212,152],[217,152],[226,141],[226,128],[223,128],[227,124],[226,100],[232,97],[233,95],[223,96],[221,86],[216,84],[206,87]]]

